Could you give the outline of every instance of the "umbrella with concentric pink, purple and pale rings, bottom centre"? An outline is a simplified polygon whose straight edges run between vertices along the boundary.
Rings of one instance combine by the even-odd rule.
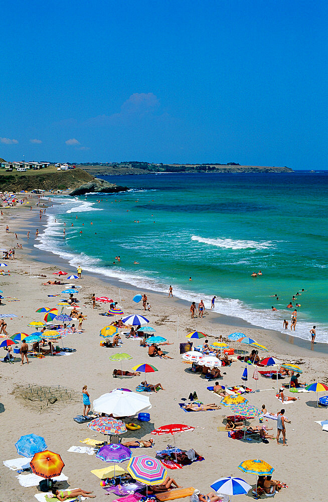
[[[140,483],[160,484],[167,477],[167,470],[157,458],[141,455],[132,457],[127,464],[127,471]]]

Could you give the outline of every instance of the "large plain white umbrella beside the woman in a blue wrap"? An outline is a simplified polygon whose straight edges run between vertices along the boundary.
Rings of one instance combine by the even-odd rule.
[[[107,413],[113,417],[132,417],[140,411],[150,410],[151,404],[147,396],[135,392],[114,389],[103,394],[93,402],[93,411]]]

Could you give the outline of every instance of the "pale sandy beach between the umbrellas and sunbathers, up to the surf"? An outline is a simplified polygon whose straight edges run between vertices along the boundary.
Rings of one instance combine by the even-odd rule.
[[[27,325],[31,321],[42,320],[43,315],[35,313],[39,307],[54,307],[57,298],[48,295],[60,294],[62,285],[44,286],[48,280],[53,280],[53,273],[60,267],[69,274],[75,274],[76,269],[49,252],[41,252],[34,247],[36,243],[35,227],[44,223],[39,220],[39,211],[35,207],[36,198],[33,198],[33,211],[29,205],[3,209],[4,215],[0,219],[0,235],[3,248],[11,248],[17,242],[23,244],[23,249],[16,249],[15,260],[7,261],[10,275],[0,276],[0,289],[4,291],[4,297],[14,297],[19,301],[8,301],[6,298],[0,306],[0,318],[2,314],[15,314],[17,317],[7,318],[9,336],[17,332],[32,332]],[[41,223],[41,224],[40,224]],[[6,233],[6,225],[10,232]],[[26,235],[30,230],[30,238]],[[18,240],[15,237],[18,234]],[[83,269],[83,264],[81,264]],[[6,268],[7,271],[7,268]],[[46,277],[42,277],[45,275]],[[65,278],[61,279],[65,283]],[[106,305],[97,304],[92,309],[91,296],[107,296],[117,301],[124,315],[133,313],[142,314],[142,304],[135,304],[132,298],[135,294],[142,294],[135,288],[124,288],[111,283],[108,279],[100,276],[82,274],[81,280],[75,281],[80,288],[78,294],[79,305],[87,319],[83,322],[82,333],[69,334],[63,343],[66,347],[74,348],[75,351],[66,355],[55,355],[45,358],[30,358],[30,364],[21,366],[20,361],[14,364],[1,363],[1,391],[0,391],[0,417],[3,425],[2,457],[3,460],[18,458],[15,448],[16,441],[20,436],[35,433],[43,436],[51,451],[60,453],[65,467],[63,473],[68,476],[68,485],[93,490],[97,499],[112,500],[115,495],[107,495],[100,486],[99,479],[90,471],[92,469],[106,467],[107,464],[96,458],[95,455],[68,452],[72,446],[81,446],[80,440],[85,438],[104,439],[99,433],[95,434],[87,428],[86,424],[77,424],[73,417],[82,414],[82,387],[88,386],[91,405],[94,399],[116,388],[128,388],[135,391],[135,387],[143,380],[140,376],[133,378],[113,379],[113,369],[119,368],[119,363],[109,360],[109,356],[116,352],[126,352],[132,356],[131,360],[123,361],[123,369],[131,370],[136,364],[153,364],[158,371],[147,374],[147,381],[156,384],[161,383],[165,391],[150,395],[150,422],[141,424],[141,429],[133,432],[128,431],[123,435],[123,442],[129,438],[149,438],[154,428],[170,423],[188,424],[196,429],[191,433],[178,434],[177,446],[188,450],[194,448],[204,457],[202,462],[196,462],[185,466],[183,469],[170,470],[169,475],[174,477],[178,484],[198,488],[201,493],[211,491],[210,485],[223,476],[241,477],[254,485],[255,476],[244,474],[238,469],[238,465],[246,459],[263,459],[274,467],[273,478],[286,483],[288,488],[282,488],[274,495],[274,498],[293,502],[306,498],[307,500],[325,500],[325,489],[328,485],[324,479],[324,459],[327,455],[326,432],[315,423],[317,420],[327,419],[327,410],[316,407],[316,394],[299,393],[291,394],[285,391],[286,396],[297,396],[297,402],[282,405],[275,397],[276,381],[265,379],[260,376],[257,381],[257,389],[260,392],[250,393],[247,399],[251,405],[261,408],[266,405],[268,411],[277,413],[285,408],[285,415],[291,420],[286,425],[286,437],[288,448],[276,440],[269,440],[264,444],[257,440],[243,441],[228,437],[227,432],[222,431],[223,418],[230,414],[229,408],[222,407],[217,411],[202,413],[185,413],[180,407],[181,398],[188,398],[191,392],[196,391],[198,398],[204,404],[216,403],[219,405],[220,396],[207,390],[209,384],[205,378],[187,370],[189,364],[184,364],[179,353],[179,343],[187,341],[186,335],[194,330],[200,330],[209,335],[211,342],[219,335],[227,337],[235,331],[242,331],[246,336],[255,338],[265,345],[272,355],[283,362],[299,364],[303,373],[300,381],[306,383],[328,383],[326,346],[315,346],[311,350],[310,342],[306,344],[296,340],[288,334],[256,328],[247,325],[244,321],[220,316],[217,313],[206,311],[204,318],[191,319],[189,305],[168,298],[158,293],[147,292],[151,311],[145,315],[151,326],[156,329],[156,335],[163,336],[173,345],[165,347],[165,351],[173,359],[150,359],[147,350],[139,346],[139,340],[126,339],[122,335],[119,348],[105,348],[100,346],[99,331],[108,325],[113,318],[99,314],[106,311]],[[169,285],[168,285],[169,289]],[[174,292],[173,292],[174,293]],[[119,298],[120,295],[120,298]],[[60,297],[58,297],[60,298]],[[69,312],[69,311],[67,311]],[[179,319],[179,323],[178,323]],[[179,326],[179,331],[178,331]],[[123,330],[124,331],[124,330]],[[214,334],[216,336],[214,336]],[[2,340],[2,339],[1,339]],[[203,339],[204,340],[204,339]],[[201,343],[202,340],[199,341]],[[194,345],[199,344],[197,341]],[[57,343],[56,343],[57,344]],[[58,342],[61,345],[61,342]],[[248,350],[247,345],[238,342],[229,342],[233,348]],[[2,351],[1,357],[5,356]],[[264,353],[263,353],[264,354]],[[264,354],[265,356],[266,354]],[[224,386],[242,385],[241,376],[245,363],[234,361],[231,366],[221,368],[223,379],[220,384]],[[255,390],[255,381],[252,379],[254,368],[248,367],[247,387]],[[280,380],[279,383],[288,383],[289,379]],[[64,401],[58,400],[55,404],[46,404],[44,401],[30,401],[22,399],[19,394],[22,387],[29,386],[61,386],[69,390],[70,398]],[[22,392],[21,392],[22,394]],[[321,394],[323,395],[323,394]],[[92,409],[92,406],[91,406]],[[125,420],[126,422],[128,420]],[[251,420],[252,425],[258,425],[258,419]],[[264,419],[264,424],[274,436],[276,435],[276,421]],[[95,437],[96,436],[96,437]],[[172,444],[172,436],[154,436],[155,446],[145,449],[141,454],[155,456],[155,450],[165,449]],[[140,454],[138,450],[132,450],[132,455]],[[126,462],[120,464],[126,466]],[[23,487],[16,478],[17,473],[1,465],[1,500],[8,502],[35,500],[38,487]],[[110,497],[110,498],[108,498]],[[240,495],[238,500],[252,498],[252,491],[247,495]],[[265,499],[262,496],[262,499]],[[187,499],[184,499],[187,500]]]

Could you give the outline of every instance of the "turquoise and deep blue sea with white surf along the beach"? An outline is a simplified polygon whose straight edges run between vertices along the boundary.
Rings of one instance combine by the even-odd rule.
[[[310,339],[315,324],[328,343],[328,172],[103,178],[130,190],[59,197],[38,247],[140,292],[172,284],[208,307],[216,295],[218,312],[279,331],[304,289],[293,334]]]

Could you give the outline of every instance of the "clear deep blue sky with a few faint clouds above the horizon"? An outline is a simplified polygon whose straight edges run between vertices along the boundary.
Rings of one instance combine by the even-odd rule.
[[[7,2],[0,157],[324,169],[328,4]]]

